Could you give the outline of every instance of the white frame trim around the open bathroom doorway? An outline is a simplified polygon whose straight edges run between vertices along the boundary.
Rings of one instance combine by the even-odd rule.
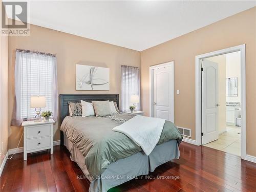
[[[245,44],[196,56],[196,144],[201,145],[202,137],[202,91],[201,59],[240,51],[241,54],[241,158],[246,160],[246,57]]]

